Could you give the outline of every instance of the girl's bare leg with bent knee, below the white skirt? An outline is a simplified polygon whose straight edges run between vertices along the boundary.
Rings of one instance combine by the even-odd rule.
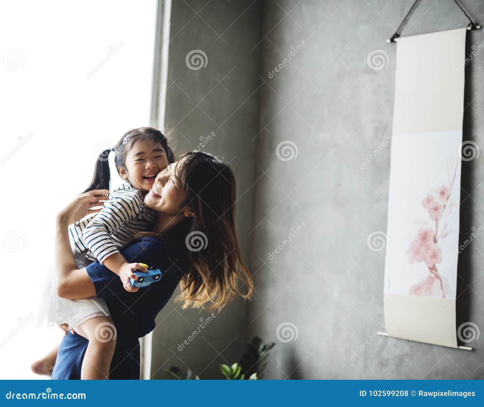
[[[116,328],[110,317],[93,317],[75,328],[89,340],[81,368],[81,379],[109,379],[116,347]]]

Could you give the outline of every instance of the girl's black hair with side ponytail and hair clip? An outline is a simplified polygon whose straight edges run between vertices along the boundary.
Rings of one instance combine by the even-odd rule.
[[[173,152],[168,147],[166,136],[162,132],[153,127],[133,129],[125,133],[112,149],[104,150],[99,154],[96,166],[94,167],[94,175],[91,184],[84,192],[92,191],[93,189],[109,189],[109,180],[111,179],[109,162],[107,161],[109,153],[111,151],[116,153],[114,162],[119,174],[119,167],[125,166],[127,153],[133,148],[137,141],[144,140],[152,140],[156,144],[160,144],[166,152],[168,164],[174,162]]]

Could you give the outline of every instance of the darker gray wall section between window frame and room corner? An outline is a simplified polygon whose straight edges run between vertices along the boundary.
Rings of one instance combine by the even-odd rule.
[[[260,46],[254,46],[262,32],[261,6],[256,2],[247,9],[249,1],[206,3],[172,3],[165,123],[178,153],[198,148],[230,163],[238,182],[239,238],[248,260],[256,150],[250,139],[257,134],[260,71]],[[197,49],[206,54],[202,58],[207,64],[192,70],[185,58]],[[206,140],[212,132],[215,136],[199,145],[200,137]],[[153,332],[152,378],[169,378],[164,369],[172,365],[188,367],[205,379],[220,378],[218,365],[241,356],[246,313],[246,303],[234,301],[180,351],[178,345],[198,331],[200,318],[211,313],[168,303]]]

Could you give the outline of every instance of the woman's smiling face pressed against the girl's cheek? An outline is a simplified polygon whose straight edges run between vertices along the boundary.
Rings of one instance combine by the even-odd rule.
[[[185,190],[176,175],[177,163],[168,165],[158,173],[150,192],[145,196],[148,208],[168,216],[181,214],[186,202]]]

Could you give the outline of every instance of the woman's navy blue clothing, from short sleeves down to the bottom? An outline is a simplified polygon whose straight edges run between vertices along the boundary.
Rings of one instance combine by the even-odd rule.
[[[126,291],[121,279],[96,261],[86,270],[94,283],[96,297],[104,298],[117,331],[110,379],[139,379],[138,339],[155,328],[155,317],[166,305],[187,270],[186,252],[168,246],[160,237],[142,237],[121,250],[129,263],[145,263],[162,271],[159,282]],[[167,271],[166,270],[174,271]],[[62,338],[52,379],[80,379],[81,365],[89,341],[68,333]]]

